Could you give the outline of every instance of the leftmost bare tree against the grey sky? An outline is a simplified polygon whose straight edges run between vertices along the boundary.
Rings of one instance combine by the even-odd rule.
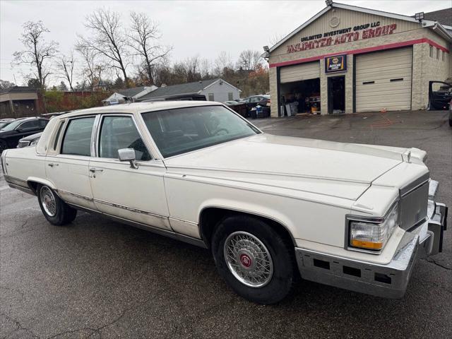
[[[13,53],[13,64],[29,64],[35,67],[33,78],[40,82],[40,88],[45,88],[45,81],[52,73],[47,65],[47,60],[52,59],[58,52],[58,43],[45,42],[44,34],[49,32],[42,21],[27,21],[22,25],[23,33],[20,41],[25,49]]]

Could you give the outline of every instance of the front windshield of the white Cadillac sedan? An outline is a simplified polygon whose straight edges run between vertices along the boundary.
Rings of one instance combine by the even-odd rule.
[[[261,133],[223,106],[147,112],[143,119],[163,157]]]

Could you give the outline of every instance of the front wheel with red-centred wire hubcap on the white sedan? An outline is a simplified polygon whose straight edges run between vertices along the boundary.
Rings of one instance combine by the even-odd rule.
[[[218,273],[234,292],[258,304],[275,304],[291,292],[291,246],[266,222],[245,215],[225,218],[212,237]]]

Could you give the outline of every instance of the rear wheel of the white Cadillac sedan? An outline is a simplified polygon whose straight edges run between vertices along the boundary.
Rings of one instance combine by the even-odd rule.
[[[49,186],[37,186],[36,193],[42,214],[52,225],[67,225],[76,218],[77,210],[62,201]]]

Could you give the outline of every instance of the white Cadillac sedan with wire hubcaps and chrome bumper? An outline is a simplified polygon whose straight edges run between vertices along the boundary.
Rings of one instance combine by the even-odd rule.
[[[446,230],[426,159],[415,148],[272,136],[222,104],[191,101],[55,117],[1,165],[53,225],[85,210],[209,248],[235,292],[270,304],[299,275],[402,297]]]

